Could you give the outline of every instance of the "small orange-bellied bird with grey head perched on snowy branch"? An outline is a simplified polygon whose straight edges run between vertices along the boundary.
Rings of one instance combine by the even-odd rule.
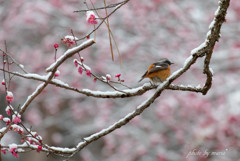
[[[142,78],[138,81],[141,82],[144,78],[149,78],[153,83],[165,81],[171,74],[170,65],[174,63],[168,59],[160,59],[158,62],[151,64],[148,70],[143,74]]]

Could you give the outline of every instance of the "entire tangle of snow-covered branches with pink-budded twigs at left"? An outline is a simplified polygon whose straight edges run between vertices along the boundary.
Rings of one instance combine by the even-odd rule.
[[[129,0],[120,2],[118,5],[114,5],[115,9],[106,17],[103,19],[102,23],[104,22],[105,19],[107,19],[111,14],[113,14],[117,9],[119,9],[122,5],[126,4]],[[69,157],[74,156],[77,152],[85,148],[88,144],[93,143],[94,141],[98,140],[99,138],[102,138],[105,135],[110,134],[111,132],[115,131],[118,128],[121,128],[122,126],[126,125],[131,121],[133,118],[136,116],[142,114],[142,112],[149,108],[153,102],[156,101],[156,99],[161,95],[161,93],[165,89],[170,89],[170,90],[180,90],[180,91],[191,91],[191,92],[200,92],[202,94],[206,94],[208,90],[211,88],[212,85],[212,77],[213,77],[213,72],[210,68],[210,60],[212,58],[213,54],[213,48],[215,46],[215,43],[219,39],[220,35],[220,29],[222,27],[222,24],[225,21],[225,16],[227,13],[227,8],[229,6],[229,1],[230,0],[220,0],[219,2],[219,8],[217,9],[215,13],[214,20],[211,22],[209,26],[209,31],[207,32],[206,39],[204,42],[198,46],[197,48],[193,49],[191,51],[190,56],[186,59],[185,63],[182,65],[180,69],[172,73],[172,75],[163,83],[160,85],[153,85],[150,83],[143,84],[142,86],[136,87],[136,88],[129,88],[129,89],[123,89],[120,90],[118,88],[115,88],[111,86],[110,78],[104,77],[104,79],[100,79],[103,83],[106,82],[107,85],[110,87],[113,87],[113,91],[98,91],[98,90],[90,90],[90,89],[78,89],[73,86],[70,86],[69,84],[61,81],[60,79],[54,78],[54,74],[56,73],[57,69],[69,58],[71,58],[74,54],[79,53],[80,51],[88,48],[89,46],[93,45],[95,43],[94,39],[89,39],[85,41],[84,43],[73,47],[69,50],[67,50],[62,56],[60,56],[58,59],[56,59],[55,63],[51,64],[47,69],[46,72],[48,72],[46,75],[38,75],[38,74],[33,74],[33,73],[28,73],[24,70],[24,68],[17,64],[14,59],[12,59],[15,64],[17,64],[20,68],[23,70],[23,74],[19,72],[12,72],[9,70],[6,70],[4,68],[0,69],[4,73],[9,73],[9,75],[12,76],[18,76],[22,77],[24,79],[30,79],[30,80],[36,80],[36,81],[41,81],[41,84],[37,87],[35,87],[35,90],[30,94],[25,102],[19,106],[19,112],[14,111],[14,108],[12,106],[9,106],[7,110],[8,113],[12,114],[9,117],[12,117],[12,121],[9,118],[1,118],[1,120],[5,121],[7,123],[6,127],[3,127],[0,129],[0,140],[1,138],[11,129],[15,129],[16,132],[20,133],[22,135],[23,130],[20,127],[20,125],[25,129],[25,132],[28,134],[27,139],[24,140],[23,144],[20,145],[4,145],[0,147],[0,149],[8,149],[9,151],[12,152],[13,155],[17,155],[17,152],[25,152],[26,150],[37,150],[37,151],[42,151],[46,153],[53,153],[53,154],[60,154],[60,155],[69,155]],[[106,8],[112,8],[113,5],[106,6]],[[101,9],[101,8],[96,8],[96,9]],[[96,10],[96,9],[90,9],[90,10]],[[95,18],[91,19],[93,22],[95,22]],[[102,24],[100,23],[99,26]],[[95,32],[98,28],[94,26],[94,30],[92,31]],[[89,36],[89,35],[88,35]],[[80,40],[80,39],[79,39]],[[55,53],[57,51],[55,47]],[[2,51],[4,52],[4,51]],[[204,66],[203,66],[203,73],[206,74],[206,82],[203,87],[196,86],[193,87],[191,85],[174,85],[172,82],[182,76],[184,73],[189,71],[189,69],[192,67],[193,64],[198,61],[199,58],[204,57]],[[79,58],[81,59],[80,55]],[[81,72],[87,71],[87,66],[85,66],[83,61],[80,62],[80,69]],[[78,66],[79,67],[79,64]],[[83,71],[82,71],[83,70]],[[89,70],[90,71],[90,70]],[[88,73],[89,76],[94,76],[91,72]],[[108,75],[109,76],[109,75]],[[97,76],[94,76],[95,78],[98,78]],[[54,85],[57,87],[60,87],[62,89],[67,89],[69,91],[73,91],[78,94],[83,94],[86,96],[91,96],[91,97],[96,97],[96,98],[125,98],[125,97],[134,97],[134,96],[139,96],[144,94],[145,92],[155,89],[155,91],[140,105],[136,107],[135,110],[132,112],[126,114],[124,117],[119,119],[118,121],[114,122],[112,125],[106,127],[105,129],[100,130],[99,132],[96,132],[88,137],[83,138],[81,141],[76,143],[76,146],[73,148],[67,148],[67,147],[55,147],[51,145],[47,145],[46,143],[42,142],[42,138],[39,135],[36,135],[36,133],[32,132],[30,129],[26,128],[23,124],[20,124],[20,117],[24,114],[24,112],[28,109],[29,105],[42,93],[42,91],[49,85]],[[13,97],[13,96],[12,96]],[[10,99],[9,99],[10,100]],[[10,101],[8,102],[10,104]],[[15,120],[13,118],[17,118],[18,120]],[[17,123],[16,123],[17,122]],[[19,126],[18,126],[18,125]],[[31,138],[31,139],[29,139]],[[81,139],[81,138],[78,138]],[[34,141],[33,141],[34,140]],[[32,144],[31,142],[35,143],[36,145]]]

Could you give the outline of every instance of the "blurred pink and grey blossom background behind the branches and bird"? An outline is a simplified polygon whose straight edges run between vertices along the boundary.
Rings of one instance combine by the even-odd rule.
[[[103,6],[103,1],[93,2],[95,7]],[[108,4],[117,2],[120,1],[107,0]],[[81,56],[94,74],[111,74],[115,79],[114,75],[121,73],[127,85],[140,86],[148,82],[137,82],[148,65],[160,58],[167,57],[174,62],[173,71],[183,66],[191,50],[205,40],[217,5],[216,0],[130,0],[109,19],[122,65],[115,47],[115,61],[111,60],[104,25],[96,32],[96,44],[84,50]],[[79,38],[93,29],[86,23],[84,12],[73,12],[80,9],[86,9],[80,0],[0,0],[0,48],[4,49],[6,40],[9,53],[26,70],[45,74],[46,67],[54,62],[55,43],[60,46],[59,57],[67,50],[61,38],[71,35],[71,29]],[[102,16],[104,13],[100,11]],[[240,161],[239,20],[240,3],[232,0],[211,60],[214,79],[207,95],[166,90],[142,115],[90,144],[69,161]],[[59,68],[58,79],[79,89],[112,90],[79,75],[72,62],[74,58],[77,56]],[[174,84],[203,85],[202,60]],[[16,70],[14,66],[11,69]],[[2,73],[0,79],[3,79]],[[39,84],[14,77],[11,81],[14,107],[22,105]],[[32,126],[48,145],[73,147],[81,138],[133,111],[153,92],[133,98],[97,99],[49,85],[24,114],[24,123]],[[0,99],[0,113],[5,115],[3,87]],[[0,126],[4,126],[2,122]],[[20,138],[10,132],[2,144],[12,142],[20,143]],[[197,151],[202,154],[194,154]],[[204,152],[212,155],[204,156]],[[59,160],[58,156],[47,157],[42,152],[19,156],[22,161],[33,157],[35,161]],[[18,160],[10,154],[2,157],[3,160]]]

